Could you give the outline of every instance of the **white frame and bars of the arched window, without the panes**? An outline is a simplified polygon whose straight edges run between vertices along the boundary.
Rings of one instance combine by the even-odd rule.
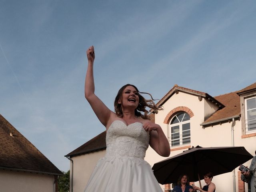
[[[186,145],[189,145],[190,143],[191,143],[191,126],[190,126],[190,119],[189,120],[186,120],[186,121],[183,121],[183,119],[184,119],[184,116],[182,117],[182,120],[180,121],[179,119],[178,119],[178,117],[177,117],[177,115],[178,114],[180,114],[180,113],[184,113],[184,116],[185,116],[185,114],[187,114],[188,115],[188,113],[186,113],[186,112],[184,112],[184,111],[180,111],[180,112],[178,112],[176,115],[174,115],[173,117],[172,117],[172,119],[170,120],[170,124],[169,124],[169,136],[168,136],[168,139],[169,139],[169,143],[170,143],[170,147],[171,148],[176,148],[176,147],[179,147],[179,146],[186,146]],[[189,115],[188,115],[189,116]],[[171,122],[172,122],[172,120],[174,119],[174,118],[177,118],[178,119],[178,123],[175,123],[175,124],[171,124]],[[182,125],[183,124],[187,124],[187,123],[189,123],[189,136],[185,136],[185,137],[182,137]],[[174,145],[174,146],[172,146],[172,127],[174,127],[174,126],[179,126],[179,140],[180,140],[180,144],[179,145]],[[190,141],[189,142],[187,142],[187,143],[185,143],[185,144],[183,144],[183,140],[185,139],[185,138],[190,138]],[[178,140],[177,139],[177,140]]]

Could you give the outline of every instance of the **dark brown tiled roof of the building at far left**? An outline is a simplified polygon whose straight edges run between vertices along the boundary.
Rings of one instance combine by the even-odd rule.
[[[62,175],[62,172],[1,114],[0,168]]]

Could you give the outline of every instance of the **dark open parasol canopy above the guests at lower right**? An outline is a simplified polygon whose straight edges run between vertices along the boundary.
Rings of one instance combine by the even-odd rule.
[[[199,147],[160,161],[152,167],[160,184],[176,183],[182,174],[189,176],[190,182],[203,179],[205,172],[214,176],[231,172],[253,156],[244,147]]]

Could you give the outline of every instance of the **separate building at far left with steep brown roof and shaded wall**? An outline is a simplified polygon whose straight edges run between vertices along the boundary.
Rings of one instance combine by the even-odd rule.
[[[0,115],[0,191],[58,192],[58,170]]]

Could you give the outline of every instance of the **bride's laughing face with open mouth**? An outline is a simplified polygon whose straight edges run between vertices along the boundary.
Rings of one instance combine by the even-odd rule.
[[[121,98],[118,100],[118,104],[122,104],[122,108],[132,107],[137,108],[139,104],[138,91],[133,86],[126,86],[122,92]]]

